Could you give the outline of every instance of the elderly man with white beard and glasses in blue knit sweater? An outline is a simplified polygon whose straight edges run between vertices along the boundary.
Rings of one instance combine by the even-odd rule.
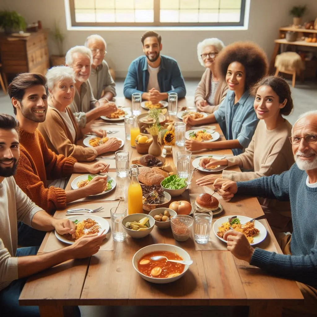
[[[248,182],[218,178],[215,189],[226,198],[234,194],[290,200],[294,231],[290,249],[276,254],[252,248],[237,231],[226,232],[228,250],[234,256],[269,273],[296,280],[304,298],[317,304],[317,110],[302,114],[289,138],[295,164],[281,175]],[[304,284],[302,284],[304,283]],[[307,284],[307,285],[305,285]],[[309,296],[308,296],[309,295]],[[306,305],[305,305],[306,306]],[[315,310],[316,313],[316,310]]]

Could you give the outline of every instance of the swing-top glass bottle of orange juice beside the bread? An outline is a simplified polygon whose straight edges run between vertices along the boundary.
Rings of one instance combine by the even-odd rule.
[[[132,139],[132,135],[131,135]],[[128,214],[143,213],[142,188],[138,180],[138,165],[130,166],[131,182],[128,188]]]

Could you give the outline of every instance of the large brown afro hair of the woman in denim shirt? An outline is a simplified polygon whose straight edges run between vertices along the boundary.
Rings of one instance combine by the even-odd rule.
[[[245,68],[245,90],[268,72],[267,56],[253,42],[234,42],[222,49],[216,58],[217,73],[225,79],[228,66],[235,61],[241,63]]]

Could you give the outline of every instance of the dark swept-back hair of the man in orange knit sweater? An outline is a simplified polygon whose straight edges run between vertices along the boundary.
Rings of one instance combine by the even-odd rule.
[[[44,86],[46,90],[46,94],[49,93],[47,85],[46,85],[46,78],[42,74],[39,74],[39,73],[18,74],[8,86],[8,94],[10,98],[13,97],[14,99],[19,100],[21,102],[25,94],[25,90],[36,85]],[[13,111],[14,111],[14,114],[16,114],[16,107],[14,106],[13,106]]]

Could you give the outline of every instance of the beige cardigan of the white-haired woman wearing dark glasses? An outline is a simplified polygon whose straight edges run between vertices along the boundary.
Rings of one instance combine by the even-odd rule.
[[[211,70],[209,68],[206,68],[195,91],[195,100],[194,100],[195,103],[198,100],[207,100],[207,97],[209,95],[209,89],[210,89],[210,76],[211,76]],[[215,94],[214,103],[216,107],[214,108],[214,111],[218,109],[221,101],[223,101],[223,99],[226,97],[227,91],[228,91],[228,85],[226,81],[220,80],[216,94]]]

